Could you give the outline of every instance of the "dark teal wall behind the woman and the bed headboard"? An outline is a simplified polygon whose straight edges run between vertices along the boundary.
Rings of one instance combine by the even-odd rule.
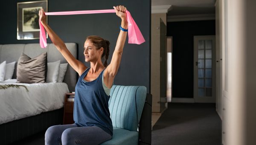
[[[17,40],[17,2],[32,0],[6,0],[1,5],[0,44],[39,43],[39,40]],[[119,72],[114,84],[150,87],[150,18],[151,0],[48,0],[48,12],[113,9],[125,5],[139,26],[145,43],[124,47]],[[78,44],[78,59],[84,62],[83,45],[88,35],[99,35],[111,42],[110,63],[119,34],[121,20],[114,13],[48,16],[48,23],[64,42]],[[47,43],[51,43],[47,39]],[[89,66],[89,64],[86,64]]]

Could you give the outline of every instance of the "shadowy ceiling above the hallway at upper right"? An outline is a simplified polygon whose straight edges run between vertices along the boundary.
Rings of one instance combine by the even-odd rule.
[[[215,14],[216,0],[151,0],[151,6],[172,5],[167,16]]]

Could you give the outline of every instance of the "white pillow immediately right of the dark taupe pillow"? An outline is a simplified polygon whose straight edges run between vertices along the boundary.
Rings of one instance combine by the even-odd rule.
[[[47,63],[46,82],[54,82],[54,83],[57,82],[60,63],[61,63],[61,61]]]

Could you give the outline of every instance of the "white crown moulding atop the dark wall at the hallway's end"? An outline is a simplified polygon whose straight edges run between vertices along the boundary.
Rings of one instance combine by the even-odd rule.
[[[167,22],[193,21],[193,20],[215,20],[215,14],[189,14],[167,16]]]

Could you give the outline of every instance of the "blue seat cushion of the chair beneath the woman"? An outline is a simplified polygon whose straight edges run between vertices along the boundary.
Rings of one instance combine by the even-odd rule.
[[[112,139],[103,142],[101,145],[138,145],[138,140],[138,131],[128,131],[121,128],[113,128]]]

